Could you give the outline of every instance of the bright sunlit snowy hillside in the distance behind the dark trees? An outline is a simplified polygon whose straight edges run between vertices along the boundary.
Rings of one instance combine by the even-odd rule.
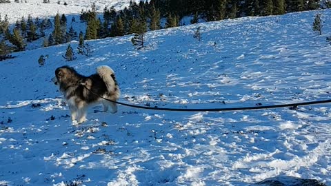
[[[58,4],[58,2],[60,2]],[[65,6],[64,3],[67,3]],[[139,2],[137,0],[136,2]],[[4,17],[6,14],[10,23],[21,20],[22,17],[54,18],[60,14],[79,14],[81,10],[90,10],[92,3],[95,3],[99,12],[103,11],[105,6],[108,8],[114,6],[116,10],[121,10],[129,5],[130,0],[106,0],[106,1],[89,1],[89,0],[50,0],[50,3],[43,3],[43,0],[23,0],[20,3],[1,3],[0,14]]]

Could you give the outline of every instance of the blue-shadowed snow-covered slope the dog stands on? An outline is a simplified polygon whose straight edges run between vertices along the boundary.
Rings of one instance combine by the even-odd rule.
[[[317,13],[322,36],[312,31]],[[151,107],[330,99],[330,21],[323,10],[188,25],[148,32],[143,50],[132,36],[90,41],[93,55],[70,62],[66,44],[15,53],[0,63],[0,185],[250,185],[275,176],[331,185],[330,104],[245,112],[119,106],[117,114],[96,106],[72,125],[50,80],[61,65],[86,75],[110,65],[120,101]]]

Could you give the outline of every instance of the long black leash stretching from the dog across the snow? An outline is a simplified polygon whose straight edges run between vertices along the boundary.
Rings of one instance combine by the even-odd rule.
[[[141,106],[141,105],[132,105],[128,103],[121,103],[119,101],[112,101],[110,99],[106,99],[103,96],[100,96],[99,94],[93,92],[90,90],[86,85],[81,83],[83,87],[86,88],[86,90],[90,91],[92,94],[99,96],[101,99],[104,99],[106,101],[110,101],[112,103],[117,103],[119,105],[124,105],[127,107],[134,107],[139,109],[146,109],[146,110],[163,110],[163,111],[177,111],[177,112],[221,112],[221,111],[237,111],[237,110],[261,110],[261,109],[270,109],[270,108],[279,108],[279,107],[292,107],[297,108],[301,105],[316,105],[321,103],[331,103],[331,99],[327,100],[321,100],[321,101],[308,101],[308,102],[302,102],[302,103],[290,103],[290,104],[281,104],[281,105],[266,105],[266,106],[255,106],[255,107],[230,107],[230,108],[194,108],[194,109],[187,109],[187,108],[162,108],[162,107],[147,107],[147,106]]]

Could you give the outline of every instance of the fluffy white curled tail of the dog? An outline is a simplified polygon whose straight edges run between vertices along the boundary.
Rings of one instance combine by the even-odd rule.
[[[112,68],[107,65],[102,65],[97,68],[97,73],[101,76],[101,79],[106,83],[107,90],[110,94],[112,94],[115,99],[119,99],[121,94],[119,90],[119,85],[115,79],[115,73]]]

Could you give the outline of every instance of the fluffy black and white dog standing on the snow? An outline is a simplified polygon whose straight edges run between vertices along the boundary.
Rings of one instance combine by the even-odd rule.
[[[104,112],[108,111],[109,106],[112,113],[117,112],[116,103],[100,97],[117,101],[121,94],[114,71],[106,65],[99,66],[97,73],[90,76],[83,76],[74,68],[62,66],[55,70],[52,81],[55,85],[59,85],[59,90],[69,105],[72,121],[78,123],[86,121],[86,111],[92,104],[102,103]]]

